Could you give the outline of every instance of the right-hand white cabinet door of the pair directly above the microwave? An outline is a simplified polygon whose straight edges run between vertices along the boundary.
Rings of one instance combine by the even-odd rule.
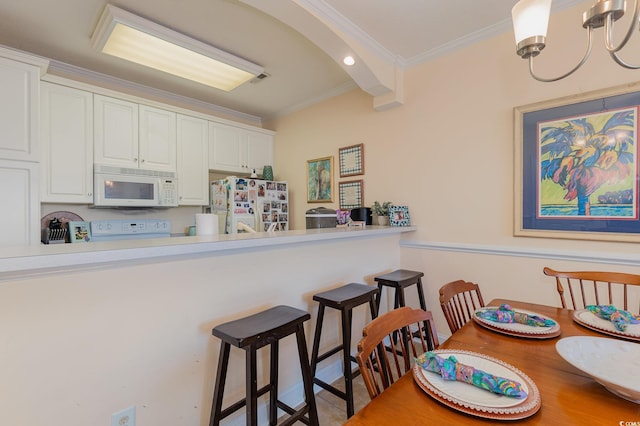
[[[145,169],[176,171],[176,113],[139,106],[140,161]]]

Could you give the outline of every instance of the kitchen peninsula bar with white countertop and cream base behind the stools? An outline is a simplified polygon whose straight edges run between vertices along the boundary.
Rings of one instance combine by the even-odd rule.
[[[349,282],[374,285],[375,276],[402,266],[400,240],[414,230],[367,226],[1,250],[0,419],[102,424],[134,406],[140,424],[208,424],[220,349],[213,327],[289,305],[311,314],[309,341],[313,295]],[[354,330],[369,315],[355,317]],[[337,345],[337,318],[325,318],[324,328],[323,344]],[[229,398],[244,394],[238,352],[230,358]],[[296,357],[295,341],[284,339],[280,364],[297,365]],[[268,371],[263,362],[259,355],[259,371]],[[322,367],[323,380],[341,377],[339,360]],[[282,401],[298,405],[299,369],[280,373]]]

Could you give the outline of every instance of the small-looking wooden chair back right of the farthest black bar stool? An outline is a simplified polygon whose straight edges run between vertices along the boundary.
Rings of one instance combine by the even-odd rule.
[[[440,307],[452,334],[469,322],[476,309],[483,306],[478,284],[458,280],[440,287]]]

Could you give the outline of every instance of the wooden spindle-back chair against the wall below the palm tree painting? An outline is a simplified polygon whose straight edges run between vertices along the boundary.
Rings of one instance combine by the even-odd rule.
[[[560,272],[548,267],[543,272],[555,277],[563,308],[615,305],[625,311],[631,308],[630,312],[640,313],[640,275],[602,271]],[[567,290],[569,297],[565,294]]]

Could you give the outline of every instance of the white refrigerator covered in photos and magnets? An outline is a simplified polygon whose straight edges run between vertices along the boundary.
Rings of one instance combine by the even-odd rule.
[[[236,176],[215,180],[211,182],[211,213],[226,216],[226,234],[287,231],[288,189],[287,182],[281,181]]]

